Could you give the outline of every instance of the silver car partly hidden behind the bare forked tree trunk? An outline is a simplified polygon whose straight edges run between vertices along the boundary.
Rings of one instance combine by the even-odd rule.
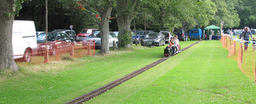
[[[95,49],[100,49],[101,46],[101,38],[100,38],[100,31],[93,32],[85,41],[92,40],[95,41]],[[114,32],[109,32],[109,47],[113,47],[113,41],[116,42],[116,46],[118,45],[118,39]]]

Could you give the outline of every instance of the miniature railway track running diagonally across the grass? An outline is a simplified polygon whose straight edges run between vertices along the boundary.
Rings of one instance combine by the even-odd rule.
[[[187,46],[186,48],[182,49],[181,51],[184,51],[184,50],[192,47],[193,45],[195,45],[195,44],[197,44],[199,42],[201,42],[201,41],[198,41],[198,42],[196,42],[194,44],[191,44],[191,45]],[[169,56],[169,57],[172,57],[172,56]],[[98,89],[95,89],[95,90],[89,92],[89,93],[83,94],[83,95],[81,95],[81,96],[79,96],[79,97],[77,97],[77,98],[75,98],[75,99],[73,99],[71,101],[66,102],[66,103],[83,103],[83,102],[87,102],[90,99],[92,99],[92,98],[94,98],[94,97],[96,97],[96,96],[98,96],[98,95],[100,95],[102,93],[105,93],[106,91],[108,91],[108,90],[110,90],[110,89],[112,89],[112,88],[122,84],[123,82],[125,82],[127,80],[130,80],[130,79],[136,77],[137,75],[145,72],[146,70],[148,70],[148,69],[156,66],[157,64],[167,60],[169,57],[163,57],[163,58],[161,58],[161,59],[159,59],[159,60],[157,60],[157,61],[155,61],[155,62],[153,62],[151,64],[148,64],[148,65],[140,68],[137,71],[134,71],[133,73],[131,73],[129,75],[124,76],[123,78],[117,79],[117,80],[115,80],[115,81],[113,81],[113,82],[111,82],[109,84],[106,84],[106,85],[104,85],[104,86],[102,86],[102,87],[100,87]]]

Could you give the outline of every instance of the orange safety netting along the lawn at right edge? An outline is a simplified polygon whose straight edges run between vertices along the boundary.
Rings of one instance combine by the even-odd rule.
[[[248,44],[246,47],[244,41],[240,42],[241,40],[233,40],[226,36],[223,36],[222,39],[223,48],[225,48],[225,44],[228,47],[229,54],[227,57],[238,61],[240,70],[256,82],[256,50],[253,51],[252,44]],[[245,48],[247,48],[247,51],[244,50]]]

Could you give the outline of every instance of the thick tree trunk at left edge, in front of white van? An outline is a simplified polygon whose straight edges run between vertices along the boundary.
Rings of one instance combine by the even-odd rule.
[[[15,0],[2,0],[0,5],[0,70],[10,68],[13,72],[19,70],[14,61],[12,50],[14,2]]]

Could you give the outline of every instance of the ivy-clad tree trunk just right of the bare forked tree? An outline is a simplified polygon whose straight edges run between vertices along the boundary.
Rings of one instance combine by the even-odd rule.
[[[134,7],[136,5],[136,2],[136,0],[133,0],[132,2],[126,0],[117,0],[118,46],[122,46],[122,37],[124,36],[123,33],[125,31],[131,32],[131,22],[134,18],[132,14],[135,12]],[[130,48],[131,45],[127,45],[125,47]]]

